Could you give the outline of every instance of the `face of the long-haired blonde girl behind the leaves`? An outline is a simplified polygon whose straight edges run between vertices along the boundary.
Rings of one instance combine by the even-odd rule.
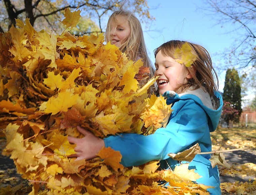
[[[131,28],[126,17],[122,15],[116,16],[117,23],[111,26],[111,40],[110,43],[120,47],[131,33]]]

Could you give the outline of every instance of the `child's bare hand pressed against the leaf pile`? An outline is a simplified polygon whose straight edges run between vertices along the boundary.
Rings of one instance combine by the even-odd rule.
[[[76,128],[79,132],[84,134],[85,137],[80,139],[68,136],[68,141],[76,144],[75,151],[77,153],[71,156],[77,156],[76,160],[90,160],[95,158],[100,149],[105,146],[103,139],[96,137],[93,133],[83,129],[80,126],[77,126]]]

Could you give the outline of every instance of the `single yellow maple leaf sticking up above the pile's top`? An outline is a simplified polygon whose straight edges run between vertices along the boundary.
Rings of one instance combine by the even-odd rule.
[[[62,20],[63,25],[66,25],[66,28],[70,27],[71,29],[75,27],[81,17],[80,13],[80,10],[71,12],[69,8],[66,8],[64,14],[65,18]]]

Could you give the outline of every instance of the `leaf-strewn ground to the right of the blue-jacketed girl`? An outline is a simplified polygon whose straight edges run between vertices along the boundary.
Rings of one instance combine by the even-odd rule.
[[[219,167],[222,194],[256,194],[256,129],[219,128],[211,133],[213,150],[250,147],[224,153],[230,169]]]

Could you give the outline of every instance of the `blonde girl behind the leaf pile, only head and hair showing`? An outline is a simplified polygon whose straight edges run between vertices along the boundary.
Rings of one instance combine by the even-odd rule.
[[[146,44],[140,22],[130,11],[115,11],[108,19],[105,39],[107,42],[119,47],[133,61],[142,59],[143,65],[150,68],[150,74],[145,81],[140,81],[143,86],[154,76],[151,60],[147,54]]]

